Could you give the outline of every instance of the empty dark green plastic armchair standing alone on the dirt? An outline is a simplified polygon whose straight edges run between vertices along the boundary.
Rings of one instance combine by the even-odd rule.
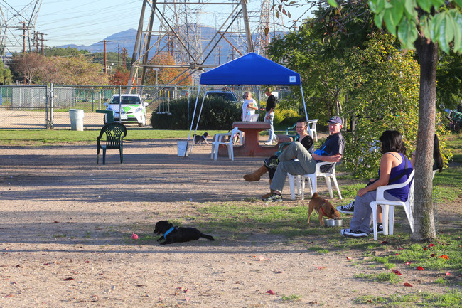
[[[106,135],[106,144],[101,144],[101,138]],[[106,164],[106,150],[119,149],[120,164],[124,164],[123,139],[127,136],[127,128],[121,123],[108,123],[104,125],[97,139],[96,163],[100,161],[100,149],[102,149],[102,164]],[[104,142],[104,140],[103,140]]]

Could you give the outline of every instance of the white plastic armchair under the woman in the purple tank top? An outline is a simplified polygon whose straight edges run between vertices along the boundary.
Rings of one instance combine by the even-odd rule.
[[[404,183],[392,184],[386,186],[377,187],[377,197],[375,201],[369,203],[370,208],[372,208],[372,225],[374,227],[374,240],[377,240],[377,206],[382,207],[382,219],[383,219],[383,234],[384,235],[393,235],[393,225],[394,225],[394,207],[402,206],[404,207],[404,212],[406,212],[407,221],[409,221],[409,226],[411,227],[411,232],[414,233],[414,216],[412,216],[413,206],[414,206],[414,170],[409,175],[409,178]],[[412,183],[411,183],[412,181]],[[409,195],[407,196],[407,201],[391,201],[385,199],[384,193],[390,189],[402,188],[406,185],[409,186]]]

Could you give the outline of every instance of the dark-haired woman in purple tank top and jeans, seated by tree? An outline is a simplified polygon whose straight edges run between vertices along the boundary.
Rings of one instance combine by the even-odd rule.
[[[369,203],[376,199],[376,189],[379,186],[404,183],[412,173],[412,164],[406,157],[406,147],[402,141],[402,134],[396,130],[387,130],[379,138],[382,148],[380,159],[379,178],[372,179],[365,188],[361,188],[355,198],[353,206],[353,218],[350,221],[350,228],[340,230],[340,234],[349,238],[367,237],[372,231],[372,209]],[[406,201],[409,194],[409,186],[385,191],[385,198],[394,201]],[[343,208],[343,207],[340,207]],[[340,209],[339,209],[340,211]],[[346,213],[343,211],[343,213]],[[377,208],[377,230],[382,229],[381,208]],[[383,232],[383,231],[382,231]]]

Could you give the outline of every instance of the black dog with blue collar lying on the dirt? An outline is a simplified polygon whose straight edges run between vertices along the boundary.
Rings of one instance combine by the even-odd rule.
[[[159,221],[156,223],[154,234],[163,234],[157,241],[165,239],[161,245],[188,242],[189,240],[198,240],[199,238],[207,238],[215,240],[211,235],[204,234],[196,228],[173,227],[173,224],[168,221]]]

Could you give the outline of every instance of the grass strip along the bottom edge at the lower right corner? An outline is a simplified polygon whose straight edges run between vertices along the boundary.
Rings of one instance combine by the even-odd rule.
[[[431,292],[414,292],[389,297],[358,297],[356,304],[380,304],[380,307],[461,307],[462,292],[451,290],[445,294]]]

